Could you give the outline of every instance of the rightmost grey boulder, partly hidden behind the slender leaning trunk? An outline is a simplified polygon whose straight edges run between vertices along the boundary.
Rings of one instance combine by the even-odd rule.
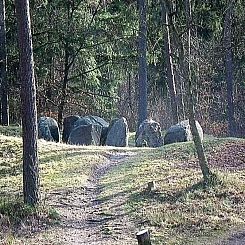
[[[203,140],[203,130],[198,121],[196,121],[196,126],[198,133],[200,135],[201,140]],[[186,142],[193,140],[191,134],[191,128],[189,120],[184,120],[178,124],[171,126],[165,136],[164,136],[164,144],[172,144],[176,142]]]

